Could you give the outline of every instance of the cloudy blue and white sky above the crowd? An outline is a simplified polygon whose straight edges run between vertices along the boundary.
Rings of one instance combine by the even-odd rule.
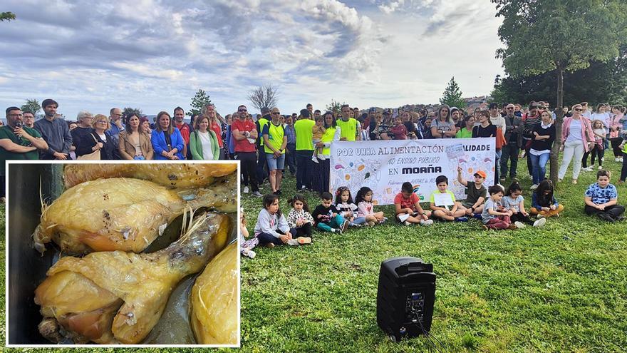
[[[489,0],[3,0],[0,103],[55,98],[75,118],[113,106],[187,110],[195,91],[220,113],[279,87],[291,113],[437,103],[451,76],[464,96],[502,73]],[[3,108],[4,109],[4,108]]]

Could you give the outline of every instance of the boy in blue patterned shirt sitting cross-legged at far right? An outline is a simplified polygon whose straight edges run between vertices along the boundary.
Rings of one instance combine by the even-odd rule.
[[[596,183],[591,184],[584,194],[584,211],[586,215],[597,215],[601,220],[616,222],[625,220],[625,208],[616,203],[618,191],[616,186],[610,184],[611,175],[609,170],[604,169],[596,173]]]

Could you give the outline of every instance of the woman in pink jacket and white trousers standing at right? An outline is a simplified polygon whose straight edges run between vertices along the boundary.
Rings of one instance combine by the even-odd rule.
[[[590,126],[590,121],[581,115],[584,109],[581,104],[573,106],[573,116],[564,119],[564,125],[561,126],[561,150],[564,155],[559,166],[557,179],[561,181],[566,175],[566,168],[573,163],[573,184],[577,183],[579,172],[581,171],[581,157],[585,152],[594,145],[594,133]]]

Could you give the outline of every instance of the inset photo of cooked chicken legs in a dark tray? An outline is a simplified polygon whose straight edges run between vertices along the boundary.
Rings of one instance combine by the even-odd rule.
[[[9,347],[239,347],[237,163],[8,165]]]

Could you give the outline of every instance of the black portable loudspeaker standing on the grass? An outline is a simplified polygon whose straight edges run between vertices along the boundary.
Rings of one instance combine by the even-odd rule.
[[[427,334],[435,301],[433,265],[416,257],[381,262],[377,324],[393,341]]]

